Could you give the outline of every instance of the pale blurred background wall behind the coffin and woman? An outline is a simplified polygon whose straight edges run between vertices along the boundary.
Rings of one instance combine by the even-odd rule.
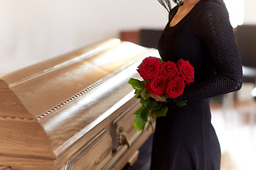
[[[240,5],[245,22],[256,23],[255,6]],[[157,0],[0,0],[0,74],[119,38],[121,30],[162,29],[167,15]]]

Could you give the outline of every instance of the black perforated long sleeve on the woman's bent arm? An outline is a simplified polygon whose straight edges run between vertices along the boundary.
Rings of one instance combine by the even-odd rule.
[[[225,6],[206,5],[201,33],[216,74],[187,86],[181,96],[169,102],[191,101],[238,91],[242,86],[242,64]]]

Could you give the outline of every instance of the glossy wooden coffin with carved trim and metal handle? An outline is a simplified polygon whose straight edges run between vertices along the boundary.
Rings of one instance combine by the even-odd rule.
[[[157,50],[111,39],[0,77],[0,169],[122,169],[151,131],[127,81]],[[127,141],[125,140],[127,139]]]

